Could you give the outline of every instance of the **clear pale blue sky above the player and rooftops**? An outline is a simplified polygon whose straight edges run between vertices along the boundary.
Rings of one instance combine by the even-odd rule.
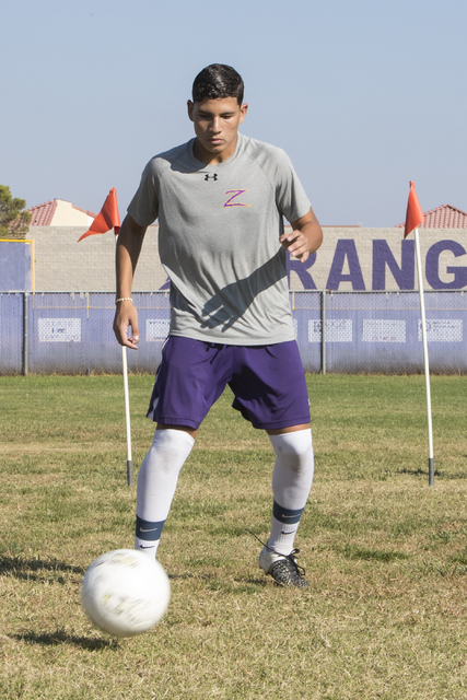
[[[242,131],[291,156],[323,224],[467,210],[465,0],[7,0],[0,184],[120,213],[147,161],[192,136],[196,73],[242,73]]]

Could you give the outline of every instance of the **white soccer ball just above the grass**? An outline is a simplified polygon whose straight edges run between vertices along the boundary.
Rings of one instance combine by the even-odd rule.
[[[116,549],[90,564],[81,598],[101,630],[113,637],[133,637],[150,630],[165,614],[171,584],[152,557],[136,549]]]

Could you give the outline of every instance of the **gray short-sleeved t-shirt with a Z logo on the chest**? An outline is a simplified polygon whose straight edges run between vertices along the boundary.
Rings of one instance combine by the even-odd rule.
[[[238,135],[218,165],[192,154],[195,139],[154,156],[128,213],[159,218],[159,252],[171,280],[171,335],[225,345],[294,339],[283,219],[310,201],[288,155]]]

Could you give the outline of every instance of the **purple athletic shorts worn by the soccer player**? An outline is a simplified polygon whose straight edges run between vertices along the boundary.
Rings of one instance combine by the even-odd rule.
[[[170,336],[162,350],[148,418],[198,429],[229,385],[233,408],[254,428],[310,422],[305,374],[294,340],[224,346]]]

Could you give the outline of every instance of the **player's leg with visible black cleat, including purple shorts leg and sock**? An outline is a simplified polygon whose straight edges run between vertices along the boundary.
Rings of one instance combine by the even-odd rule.
[[[294,537],[313,481],[308,392],[294,340],[237,348],[230,387],[233,407],[254,428],[266,430],[276,453],[272,525],[260,568],[279,584],[308,585],[296,564]]]

